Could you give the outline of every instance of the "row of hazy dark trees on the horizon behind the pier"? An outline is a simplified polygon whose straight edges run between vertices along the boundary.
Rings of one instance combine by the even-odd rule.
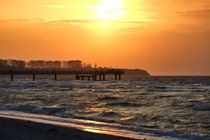
[[[0,69],[23,69],[23,68],[68,68],[68,69],[82,69],[92,68],[91,64],[83,63],[81,60],[69,61],[45,61],[45,60],[14,60],[14,59],[0,59]]]

